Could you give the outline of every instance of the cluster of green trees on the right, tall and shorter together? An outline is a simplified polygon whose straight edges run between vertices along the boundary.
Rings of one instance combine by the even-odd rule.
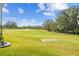
[[[60,11],[55,21],[46,20],[43,26],[48,31],[79,34],[79,8],[70,7]]]

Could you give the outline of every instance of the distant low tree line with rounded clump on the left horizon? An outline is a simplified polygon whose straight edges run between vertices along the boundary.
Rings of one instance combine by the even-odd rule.
[[[14,21],[8,21],[3,25],[4,29],[41,29],[41,26],[18,26]]]

